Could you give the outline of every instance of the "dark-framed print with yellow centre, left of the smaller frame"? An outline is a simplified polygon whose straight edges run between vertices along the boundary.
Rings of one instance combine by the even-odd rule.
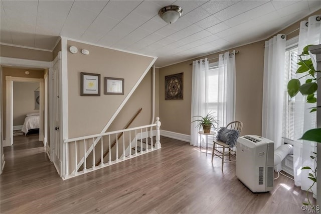
[[[100,74],[80,73],[80,95],[100,96]]]

